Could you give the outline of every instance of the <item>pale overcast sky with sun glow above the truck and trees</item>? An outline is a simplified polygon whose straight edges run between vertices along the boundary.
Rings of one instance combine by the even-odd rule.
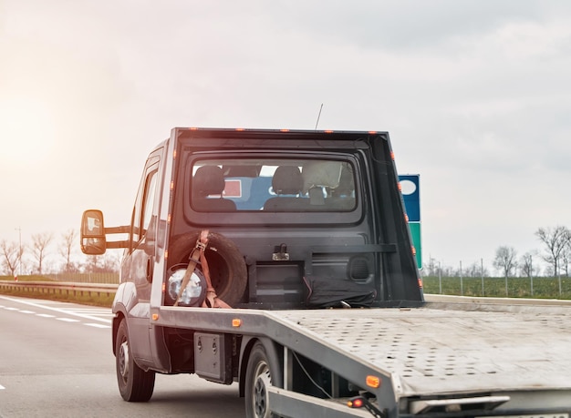
[[[171,127],[388,130],[422,251],[571,227],[568,0],[0,0],[0,240],[126,224]]]

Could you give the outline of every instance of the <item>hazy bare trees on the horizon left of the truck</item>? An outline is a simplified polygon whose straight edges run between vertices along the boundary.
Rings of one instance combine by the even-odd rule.
[[[78,248],[75,229],[68,229],[57,240],[48,232],[32,235],[31,243],[0,240],[0,271],[11,276],[119,271],[118,251],[87,256],[79,253]]]

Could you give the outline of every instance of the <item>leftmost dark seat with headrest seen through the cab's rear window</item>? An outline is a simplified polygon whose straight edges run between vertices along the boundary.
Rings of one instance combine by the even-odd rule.
[[[218,166],[198,168],[192,178],[192,208],[205,212],[236,210],[233,200],[223,199],[224,187],[222,168]]]

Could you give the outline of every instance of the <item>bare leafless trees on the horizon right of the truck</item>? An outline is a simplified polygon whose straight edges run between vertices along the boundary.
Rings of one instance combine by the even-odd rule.
[[[543,245],[542,250],[525,252],[518,257],[517,251],[512,246],[501,245],[495,250],[493,268],[502,277],[537,277],[541,272],[539,260],[545,262],[544,276],[569,277],[569,265],[571,264],[571,229],[564,226],[551,228],[539,228],[535,231],[535,237]],[[462,266],[442,266],[435,259],[430,259],[423,266],[423,275],[442,277],[489,277],[490,271],[483,266],[483,260],[474,261],[472,264]]]

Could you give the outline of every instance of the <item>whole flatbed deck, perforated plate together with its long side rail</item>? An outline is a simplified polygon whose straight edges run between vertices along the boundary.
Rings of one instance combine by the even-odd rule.
[[[387,396],[568,391],[571,306],[492,311],[161,309],[162,325],[265,335],[348,376],[378,372]],[[430,306],[430,304],[429,304]],[[190,314],[190,311],[195,314]],[[240,329],[230,323],[240,318]],[[355,369],[361,369],[357,371]],[[387,384],[387,382],[385,382]]]

